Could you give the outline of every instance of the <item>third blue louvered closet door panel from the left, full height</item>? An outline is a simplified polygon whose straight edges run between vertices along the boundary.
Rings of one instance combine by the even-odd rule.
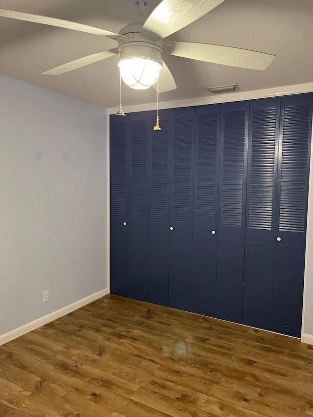
[[[168,306],[170,134],[169,111],[160,110],[161,131],[153,131],[150,118],[148,301]]]

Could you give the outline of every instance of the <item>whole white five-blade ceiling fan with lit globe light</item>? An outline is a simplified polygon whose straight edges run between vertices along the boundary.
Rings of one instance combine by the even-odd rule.
[[[145,20],[143,7],[148,1],[135,1],[140,7],[138,20],[123,27],[119,33],[81,23],[5,9],[0,9],[0,16],[78,30],[116,40],[118,42],[116,48],[70,61],[43,74],[63,74],[117,54],[121,77],[126,85],[134,89],[156,86],[157,80],[159,92],[176,88],[174,77],[163,61],[163,50],[179,57],[260,70],[267,68],[274,59],[274,55],[230,46],[164,41],[164,38],[201,18],[224,0],[163,0]]]

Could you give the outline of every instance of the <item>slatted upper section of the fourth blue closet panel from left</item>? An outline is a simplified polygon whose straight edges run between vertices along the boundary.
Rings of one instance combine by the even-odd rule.
[[[190,221],[192,207],[192,116],[174,118],[172,220]]]

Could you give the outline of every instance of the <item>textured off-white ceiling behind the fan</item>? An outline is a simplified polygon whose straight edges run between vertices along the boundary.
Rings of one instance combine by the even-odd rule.
[[[160,0],[150,0],[148,16]],[[112,32],[136,19],[134,0],[0,0],[0,8],[52,16]],[[264,71],[164,54],[177,89],[160,101],[208,96],[206,87],[238,84],[242,91],[313,82],[313,0],[225,0],[169,40],[236,46],[276,55]],[[109,38],[0,17],[0,73],[105,108],[117,106],[117,56],[63,75],[54,66],[115,47]],[[122,87],[124,106],[152,103],[156,91]]]

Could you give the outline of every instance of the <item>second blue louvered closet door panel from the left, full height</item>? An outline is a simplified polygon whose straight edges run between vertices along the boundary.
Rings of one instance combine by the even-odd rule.
[[[146,112],[129,118],[129,241],[128,296],[147,301],[148,283],[148,172],[151,125]]]

